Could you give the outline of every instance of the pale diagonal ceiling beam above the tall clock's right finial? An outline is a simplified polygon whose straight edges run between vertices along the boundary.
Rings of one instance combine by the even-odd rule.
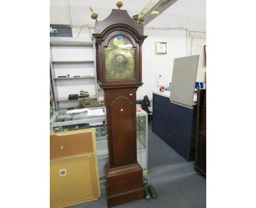
[[[143,25],[146,26],[149,22],[155,19],[158,15],[152,15],[152,11],[158,11],[161,14],[172,4],[177,2],[178,0],[151,0],[144,9],[141,10],[138,16],[144,16]]]

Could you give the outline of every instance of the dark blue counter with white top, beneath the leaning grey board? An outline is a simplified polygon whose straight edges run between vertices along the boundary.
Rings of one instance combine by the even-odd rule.
[[[195,155],[196,106],[185,108],[170,102],[170,92],[153,92],[152,131],[187,161]]]

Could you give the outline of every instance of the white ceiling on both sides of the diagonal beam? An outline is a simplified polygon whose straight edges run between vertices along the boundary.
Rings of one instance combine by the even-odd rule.
[[[105,19],[117,0],[50,0],[50,23],[82,26],[94,25],[90,7],[98,13],[98,21]],[[138,14],[150,0],[123,0],[123,7],[130,16]],[[70,15],[69,15],[70,13]],[[178,0],[146,27],[176,28],[206,32],[206,0]]]

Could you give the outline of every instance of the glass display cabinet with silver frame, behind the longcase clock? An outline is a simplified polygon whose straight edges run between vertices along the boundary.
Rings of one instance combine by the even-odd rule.
[[[88,112],[68,114],[68,111],[58,111],[50,119],[50,132],[72,131],[95,127],[100,180],[105,179],[104,166],[108,161],[108,140],[106,108],[97,107],[90,110],[102,109],[103,115],[88,115]],[[137,161],[144,175],[148,169],[148,114],[141,109],[137,112]]]

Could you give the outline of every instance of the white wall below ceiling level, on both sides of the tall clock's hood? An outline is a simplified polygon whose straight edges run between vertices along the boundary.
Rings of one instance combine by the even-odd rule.
[[[88,38],[89,28],[72,27],[74,37]],[[94,33],[94,29],[90,28],[90,34]],[[205,52],[206,38],[201,36],[192,38],[190,33],[185,29],[144,29],[144,35],[148,35],[142,47],[142,87],[138,88],[137,100],[143,99],[144,95],[148,95],[152,99],[152,91],[159,90],[156,84],[156,77],[161,75],[164,79],[165,87],[168,87],[172,81],[173,59],[199,54],[199,66],[197,70],[196,81],[205,82]],[[205,35],[205,34],[204,34]],[[188,37],[188,39],[187,39]],[[167,42],[167,54],[155,54],[155,42]],[[192,45],[191,45],[192,42]],[[191,48],[192,46],[192,48]]]

